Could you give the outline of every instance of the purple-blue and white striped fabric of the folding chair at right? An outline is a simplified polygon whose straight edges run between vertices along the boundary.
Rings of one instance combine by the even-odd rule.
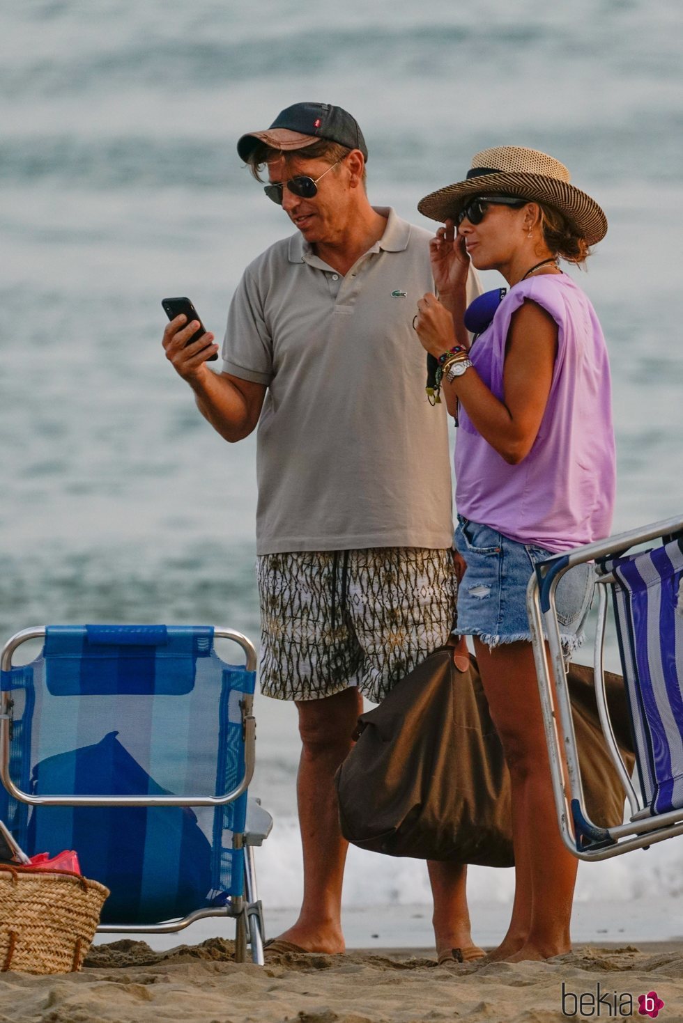
[[[683,540],[604,565],[614,610],[645,803],[683,808]]]

